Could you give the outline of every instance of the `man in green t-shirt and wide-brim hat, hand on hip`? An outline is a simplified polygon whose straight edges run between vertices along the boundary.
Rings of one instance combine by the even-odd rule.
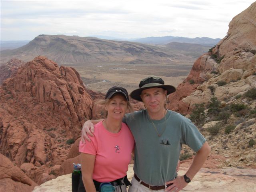
[[[164,85],[160,77],[144,78],[139,88],[130,96],[142,101],[146,110],[126,114],[125,122],[135,140],[134,177],[129,192],[170,191],[178,192],[184,188],[203,166],[210,146],[196,126],[184,116],[166,109],[167,95],[176,89]],[[82,140],[93,132],[93,124],[87,121],[82,130]],[[182,144],[187,144],[196,155],[184,176],[178,176],[178,163]]]

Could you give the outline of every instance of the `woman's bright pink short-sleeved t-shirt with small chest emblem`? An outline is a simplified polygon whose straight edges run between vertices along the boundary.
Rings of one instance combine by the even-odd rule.
[[[122,123],[120,132],[111,133],[104,128],[102,121],[94,128],[91,142],[83,144],[80,141],[79,144],[80,152],[96,156],[92,178],[98,182],[110,182],[126,176],[134,147],[130,129]]]

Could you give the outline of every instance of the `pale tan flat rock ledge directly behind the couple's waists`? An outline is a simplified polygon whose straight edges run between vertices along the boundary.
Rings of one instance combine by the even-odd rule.
[[[186,173],[180,167],[178,175]],[[129,165],[128,179],[133,176],[133,165]],[[250,168],[202,168],[183,192],[255,192],[256,170]],[[71,192],[71,174],[62,175],[36,186],[32,192]]]

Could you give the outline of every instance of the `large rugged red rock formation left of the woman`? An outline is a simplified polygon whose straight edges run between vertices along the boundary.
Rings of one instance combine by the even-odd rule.
[[[26,170],[40,184],[66,160],[66,141],[80,136],[91,108],[78,72],[39,56],[0,88],[0,152],[18,166],[34,164]]]

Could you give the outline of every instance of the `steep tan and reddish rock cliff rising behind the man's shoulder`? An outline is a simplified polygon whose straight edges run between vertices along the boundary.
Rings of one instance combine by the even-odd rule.
[[[226,37],[196,60],[188,77],[168,97],[168,108],[190,113],[194,104],[210,101],[213,95],[208,86],[214,86],[220,100],[243,94],[256,87],[255,72],[256,2],[235,16]],[[227,84],[219,87],[219,81]]]

